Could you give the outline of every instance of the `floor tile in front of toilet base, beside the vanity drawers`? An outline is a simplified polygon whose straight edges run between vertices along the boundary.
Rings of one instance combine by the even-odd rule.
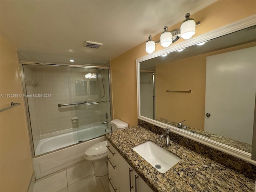
[[[94,174],[68,186],[68,192],[105,192],[100,179]]]

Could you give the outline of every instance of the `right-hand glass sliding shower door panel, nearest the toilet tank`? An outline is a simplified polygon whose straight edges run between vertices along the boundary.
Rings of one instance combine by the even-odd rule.
[[[108,69],[72,68],[70,86],[74,106],[72,124],[76,142],[111,132]]]

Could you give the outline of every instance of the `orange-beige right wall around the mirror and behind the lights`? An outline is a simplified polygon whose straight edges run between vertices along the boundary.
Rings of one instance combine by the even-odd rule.
[[[196,27],[194,36],[256,14],[255,7],[256,1],[218,0],[191,15],[191,18],[196,21],[201,21],[201,25]],[[178,24],[169,27],[169,30],[180,28],[182,21],[183,18]],[[148,35],[150,34],[145,35],[145,40],[147,40]],[[160,34],[153,37],[153,40],[159,39]],[[143,42],[111,60],[114,118],[126,121],[129,126],[137,125],[136,59],[147,55],[145,43]],[[157,44],[156,51],[161,49],[163,47]]]

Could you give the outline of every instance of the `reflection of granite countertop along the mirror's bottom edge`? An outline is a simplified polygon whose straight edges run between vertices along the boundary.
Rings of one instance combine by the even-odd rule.
[[[156,119],[156,121],[159,121],[159,122],[162,122],[162,123],[174,126],[174,127],[177,127],[177,125],[178,125],[177,122],[169,121],[169,120],[166,120],[163,118],[158,118],[158,119]],[[193,132],[195,134],[199,134],[200,136],[210,138],[211,140],[226,144],[228,146],[231,146],[231,147],[243,150],[243,151],[246,151],[248,153],[252,153],[252,145],[250,145],[248,143],[240,142],[240,141],[228,138],[228,137],[224,137],[224,136],[217,135],[214,133],[206,132],[206,131],[203,131],[200,129],[192,128],[190,126],[187,126],[186,123],[184,123],[183,126],[186,126],[186,128],[182,128],[183,130],[187,130],[187,131]]]

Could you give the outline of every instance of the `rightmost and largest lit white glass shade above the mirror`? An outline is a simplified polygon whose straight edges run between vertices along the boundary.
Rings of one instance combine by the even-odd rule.
[[[196,22],[187,20],[180,26],[180,35],[183,39],[190,39],[196,33]]]

